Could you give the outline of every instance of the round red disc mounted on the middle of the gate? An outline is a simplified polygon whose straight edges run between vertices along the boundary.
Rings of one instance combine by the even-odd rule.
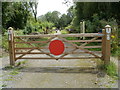
[[[60,55],[64,52],[64,43],[60,40],[53,40],[49,44],[50,53]]]

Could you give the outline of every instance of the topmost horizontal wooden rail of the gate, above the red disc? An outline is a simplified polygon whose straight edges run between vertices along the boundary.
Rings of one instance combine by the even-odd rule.
[[[14,38],[18,38],[18,37],[21,37],[21,38],[34,38],[34,37],[102,37],[103,34],[98,34],[98,33],[81,33],[81,34],[41,34],[41,35],[16,35],[14,36]]]

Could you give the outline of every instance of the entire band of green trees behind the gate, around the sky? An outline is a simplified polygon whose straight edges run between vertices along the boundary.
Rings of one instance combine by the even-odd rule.
[[[64,1],[65,4],[69,2]],[[120,2],[76,2],[68,9],[67,14],[61,15],[60,12],[53,11],[38,18],[37,5],[38,2],[3,2],[2,27],[5,29],[10,26],[15,29],[33,27],[30,30],[39,31],[54,26],[79,32],[80,22],[84,20],[86,32],[97,32],[108,22],[117,22],[120,25]]]

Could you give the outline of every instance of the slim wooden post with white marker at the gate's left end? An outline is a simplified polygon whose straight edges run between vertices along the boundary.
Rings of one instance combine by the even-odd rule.
[[[13,44],[13,28],[8,28],[8,40],[9,40],[9,58],[10,58],[10,65],[15,64],[14,58],[14,44]]]

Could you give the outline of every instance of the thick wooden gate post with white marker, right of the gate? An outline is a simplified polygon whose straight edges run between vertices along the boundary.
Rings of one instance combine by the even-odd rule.
[[[102,30],[104,34],[102,38],[102,59],[104,60],[104,64],[109,64],[110,62],[110,37],[111,37],[111,26],[106,25],[105,29]]]

